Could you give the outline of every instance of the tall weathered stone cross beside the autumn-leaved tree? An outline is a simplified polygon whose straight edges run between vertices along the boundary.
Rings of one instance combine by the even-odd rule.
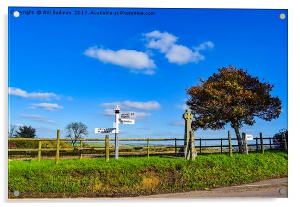
[[[195,160],[197,157],[197,151],[195,149],[195,137],[194,132],[191,130],[191,120],[194,118],[193,114],[189,109],[185,110],[185,113],[182,115],[182,118],[185,120],[185,129],[184,129],[184,157],[186,159]]]

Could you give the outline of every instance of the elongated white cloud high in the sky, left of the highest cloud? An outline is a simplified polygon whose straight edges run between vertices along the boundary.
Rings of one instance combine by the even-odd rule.
[[[152,75],[155,73],[156,65],[149,58],[149,55],[136,50],[110,50],[98,47],[90,47],[84,54],[86,56],[96,58],[103,63],[110,63],[125,68],[129,68],[134,73],[144,73]]]

